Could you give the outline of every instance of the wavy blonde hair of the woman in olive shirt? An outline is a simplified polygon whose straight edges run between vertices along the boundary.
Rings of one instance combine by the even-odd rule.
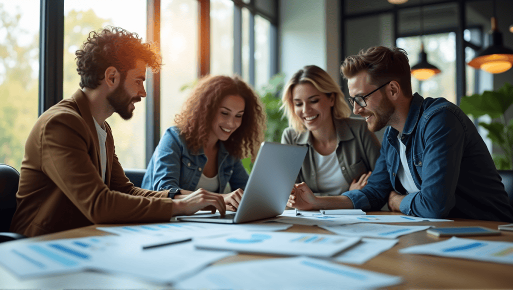
[[[289,120],[289,126],[297,132],[306,130],[301,119],[294,113],[294,103],[292,101],[292,90],[298,84],[312,84],[320,92],[325,93],[327,97],[334,94],[334,106],[332,107],[332,116],[336,119],[348,118],[351,115],[351,109],[344,99],[344,93],[340,90],[337,82],[323,69],[318,66],[305,66],[296,72],[285,85],[282,95],[283,115]]]

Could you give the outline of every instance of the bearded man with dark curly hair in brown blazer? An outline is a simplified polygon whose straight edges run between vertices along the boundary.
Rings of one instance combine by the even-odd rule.
[[[76,51],[80,87],[37,119],[25,144],[11,231],[29,237],[98,223],[169,221],[226,206],[205,190],[173,200],[169,191],[134,187],[114,151],[105,121],[130,119],[146,97],[146,68],[158,72],[159,50],[136,33],[107,27]]]

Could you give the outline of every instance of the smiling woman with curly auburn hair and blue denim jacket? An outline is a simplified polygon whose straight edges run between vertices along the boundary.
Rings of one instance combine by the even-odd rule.
[[[142,188],[170,190],[185,198],[200,188],[223,194],[226,209],[238,208],[248,180],[241,159],[257,156],[266,115],[260,98],[239,77],[199,80],[155,149]]]

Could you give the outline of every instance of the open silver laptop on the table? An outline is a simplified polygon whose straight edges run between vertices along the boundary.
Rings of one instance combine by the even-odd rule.
[[[176,220],[242,223],[281,215],[306,151],[302,146],[262,142],[236,213],[179,216]]]

